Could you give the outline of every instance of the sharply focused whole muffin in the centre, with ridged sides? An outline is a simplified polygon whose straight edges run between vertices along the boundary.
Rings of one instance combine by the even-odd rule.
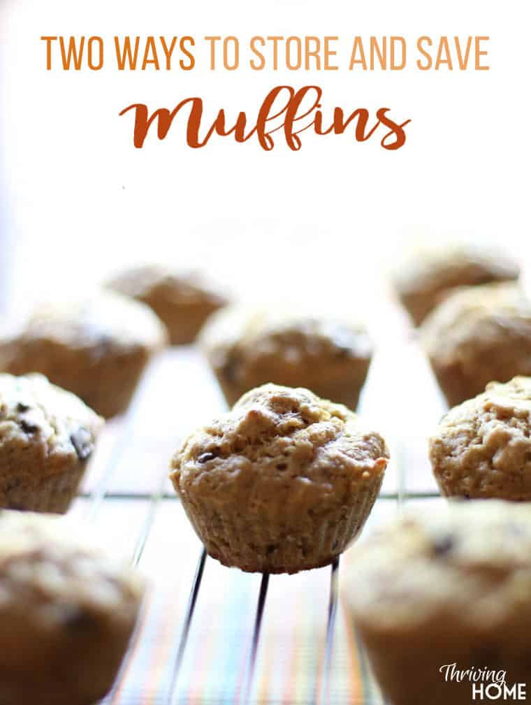
[[[171,480],[210,556],[249,572],[331,563],[361,531],[389,453],[346,407],[267,384],[198,429]]]

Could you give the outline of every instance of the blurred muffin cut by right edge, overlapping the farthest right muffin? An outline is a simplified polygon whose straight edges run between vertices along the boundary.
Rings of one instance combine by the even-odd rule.
[[[425,320],[421,340],[449,406],[491,381],[531,375],[531,303],[514,283],[468,287]]]

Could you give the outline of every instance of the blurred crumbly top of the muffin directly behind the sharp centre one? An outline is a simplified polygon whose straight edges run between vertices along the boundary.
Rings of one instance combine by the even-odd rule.
[[[227,307],[214,314],[201,338],[214,366],[232,363],[240,372],[268,357],[294,367],[317,358],[370,360],[373,349],[362,324],[275,307]]]

